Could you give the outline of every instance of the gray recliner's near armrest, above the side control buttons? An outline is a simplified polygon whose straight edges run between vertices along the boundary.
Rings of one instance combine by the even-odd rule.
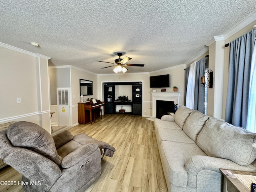
[[[90,156],[93,152],[98,149],[98,144],[89,143],[82,145],[77,148],[75,151],[71,152],[62,159],[61,166],[62,168],[70,168],[79,162],[84,162],[86,157]],[[100,150],[99,150],[100,153]]]

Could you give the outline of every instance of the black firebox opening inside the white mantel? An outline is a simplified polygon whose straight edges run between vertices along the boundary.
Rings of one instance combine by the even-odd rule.
[[[172,101],[156,100],[156,118],[160,119],[168,112],[174,112],[174,103]]]

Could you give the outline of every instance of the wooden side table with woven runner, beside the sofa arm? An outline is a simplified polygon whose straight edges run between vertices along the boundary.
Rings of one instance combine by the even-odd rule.
[[[242,184],[237,178],[227,176],[227,171],[224,169],[220,169],[222,174],[224,175],[223,180],[223,192],[250,192],[244,184]],[[253,175],[256,176],[254,172],[245,172],[245,171],[235,171],[229,170],[232,174],[242,174],[242,175]]]

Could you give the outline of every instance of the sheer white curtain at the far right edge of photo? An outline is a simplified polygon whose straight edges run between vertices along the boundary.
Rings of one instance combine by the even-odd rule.
[[[250,73],[249,103],[246,129],[256,132],[256,43],[252,53],[252,65]]]

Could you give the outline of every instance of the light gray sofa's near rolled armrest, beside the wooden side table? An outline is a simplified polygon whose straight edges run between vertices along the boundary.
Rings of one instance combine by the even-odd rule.
[[[192,188],[196,188],[196,177],[202,170],[220,172],[220,169],[227,169],[256,172],[256,167],[252,164],[240,166],[228,159],[200,155],[190,157],[185,163],[185,169],[188,172],[188,186]]]

